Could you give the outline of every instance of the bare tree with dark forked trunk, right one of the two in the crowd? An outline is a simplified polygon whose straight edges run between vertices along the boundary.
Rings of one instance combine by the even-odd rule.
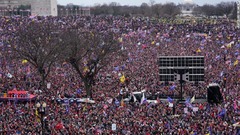
[[[92,98],[95,76],[121,49],[115,33],[81,29],[67,29],[64,33],[63,44],[68,48],[66,61],[84,82],[87,97]]]

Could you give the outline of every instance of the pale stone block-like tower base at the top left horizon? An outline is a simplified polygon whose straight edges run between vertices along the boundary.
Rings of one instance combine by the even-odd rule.
[[[57,0],[32,0],[31,13],[37,16],[57,16]]]

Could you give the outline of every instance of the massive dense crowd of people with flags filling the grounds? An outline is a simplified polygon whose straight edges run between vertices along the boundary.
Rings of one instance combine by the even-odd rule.
[[[51,86],[42,90],[37,69],[10,57],[11,45],[4,40],[11,37],[6,37],[4,31],[16,30],[32,21],[61,27],[84,25],[86,29],[111,29],[118,33],[127,59],[113,57],[97,74],[92,88],[95,103],[66,105],[56,101],[66,96],[86,95],[83,82],[71,65],[56,64],[46,80]],[[37,101],[47,104],[43,123],[36,116],[36,102],[1,102],[1,134],[240,134],[233,126],[240,121],[240,29],[234,22],[119,16],[1,17],[0,31],[1,93],[14,88],[28,90],[37,95]],[[178,82],[159,81],[158,56],[204,56],[205,81],[198,86],[186,83],[184,98],[206,97],[207,85],[214,82],[221,85],[223,102],[193,102],[190,107],[185,104],[171,107],[160,99],[157,103],[117,102],[115,97],[122,91],[132,93],[144,89],[163,95],[180,94]],[[128,81],[125,87],[119,80],[122,75]],[[226,85],[223,85],[224,78]],[[176,88],[170,89],[172,85]],[[193,109],[196,107],[197,110]]]

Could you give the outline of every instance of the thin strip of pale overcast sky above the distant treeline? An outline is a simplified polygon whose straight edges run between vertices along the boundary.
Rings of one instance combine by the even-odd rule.
[[[75,5],[81,6],[94,6],[95,4],[109,4],[111,2],[117,2],[121,5],[136,5],[140,6],[142,3],[150,3],[150,0],[57,0],[58,4],[66,5],[69,3],[73,3]],[[184,1],[191,1],[191,0],[154,0],[155,3],[166,3],[166,2],[174,2],[176,4],[183,3]],[[233,0],[193,0],[194,3],[198,5],[204,4],[212,4],[215,5],[216,3],[220,2],[231,2]],[[235,0],[236,1],[236,0]]]

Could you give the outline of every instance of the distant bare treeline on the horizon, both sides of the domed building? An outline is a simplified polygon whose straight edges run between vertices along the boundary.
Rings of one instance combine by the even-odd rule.
[[[140,6],[122,6],[116,2],[103,5],[95,5],[91,8],[93,15],[123,15],[123,16],[154,16],[154,17],[175,17],[181,15],[183,5],[175,3],[142,3]],[[226,16],[231,19],[237,18],[237,4],[235,2],[221,2],[216,5],[205,4],[194,6],[193,14],[197,16]]]

